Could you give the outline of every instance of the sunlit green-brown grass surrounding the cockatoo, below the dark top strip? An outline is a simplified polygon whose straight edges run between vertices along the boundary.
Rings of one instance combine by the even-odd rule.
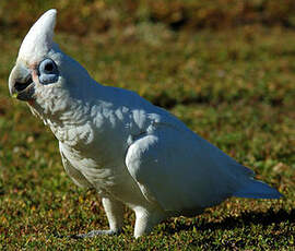
[[[108,227],[94,191],[63,171],[51,132],[9,97],[7,79],[21,37],[0,35],[0,249],[295,249],[295,32],[262,26],[200,32],[141,22],[56,40],[101,83],[165,106],[258,177],[281,200],[231,199],[194,218],[172,218],[152,235],[72,240],[57,236]]]

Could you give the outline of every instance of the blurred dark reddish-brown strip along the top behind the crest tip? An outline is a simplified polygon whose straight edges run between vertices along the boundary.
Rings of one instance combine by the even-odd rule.
[[[59,10],[59,31],[85,35],[128,28],[142,22],[168,28],[229,28],[243,25],[295,26],[292,0],[10,0],[1,1],[1,26],[20,31],[40,12]],[[73,28],[74,27],[74,28]]]

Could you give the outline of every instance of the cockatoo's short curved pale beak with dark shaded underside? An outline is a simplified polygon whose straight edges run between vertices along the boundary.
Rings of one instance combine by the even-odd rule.
[[[16,64],[9,76],[9,91],[12,97],[20,100],[31,100],[35,93],[32,72],[27,68]]]

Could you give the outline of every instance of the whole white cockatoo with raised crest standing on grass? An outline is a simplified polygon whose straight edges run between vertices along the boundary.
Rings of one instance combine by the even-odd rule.
[[[51,129],[73,182],[102,198],[109,230],[78,237],[120,232],[125,206],[135,213],[138,238],[168,217],[196,216],[229,196],[281,196],[168,111],[95,82],[52,41],[56,15],[44,13],[25,36],[9,89]]]

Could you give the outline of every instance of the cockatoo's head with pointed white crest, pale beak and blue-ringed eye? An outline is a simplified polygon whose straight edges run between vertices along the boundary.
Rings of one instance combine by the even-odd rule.
[[[86,70],[54,43],[56,15],[56,10],[49,10],[31,27],[9,76],[13,97],[47,110],[62,106],[62,96],[78,95],[90,79]]]

